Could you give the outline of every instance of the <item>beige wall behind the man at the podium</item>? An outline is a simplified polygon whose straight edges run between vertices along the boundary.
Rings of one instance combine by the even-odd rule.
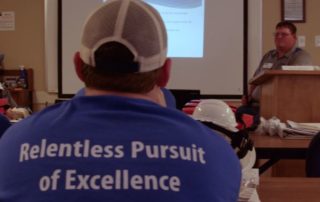
[[[314,37],[320,35],[320,1],[319,0],[305,0],[306,1],[306,22],[295,23],[298,29],[298,35],[306,37],[307,50],[313,59],[315,65],[320,65],[320,47],[315,47]],[[272,33],[274,27],[281,20],[281,0],[263,0],[263,52],[274,47]]]

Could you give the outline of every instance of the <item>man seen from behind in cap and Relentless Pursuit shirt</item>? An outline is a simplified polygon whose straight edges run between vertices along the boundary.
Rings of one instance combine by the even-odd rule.
[[[0,201],[236,201],[231,146],[163,107],[169,79],[160,15],[110,0],[83,27],[75,54],[85,96],[12,126],[0,141]]]

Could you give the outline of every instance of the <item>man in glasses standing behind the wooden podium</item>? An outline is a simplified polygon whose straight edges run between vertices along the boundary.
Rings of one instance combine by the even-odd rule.
[[[281,21],[276,25],[274,33],[275,49],[268,51],[260,61],[253,76],[257,76],[268,69],[281,69],[282,65],[312,65],[309,53],[297,47],[297,28],[288,21]],[[255,116],[258,124],[259,101],[261,87],[249,85],[248,95],[242,97],[242,106],[238,114],[248,113]]]

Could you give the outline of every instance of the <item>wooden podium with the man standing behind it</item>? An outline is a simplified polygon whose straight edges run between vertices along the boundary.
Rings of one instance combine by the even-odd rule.
[[[320,71],[268,70],[250,84],[261,86],[262,117],[320,122]]]

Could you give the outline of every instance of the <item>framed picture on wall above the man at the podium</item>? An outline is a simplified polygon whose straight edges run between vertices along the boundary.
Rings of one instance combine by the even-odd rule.
[[[305,0],[281,0],[281,20],[303,23],[306,22]]]

